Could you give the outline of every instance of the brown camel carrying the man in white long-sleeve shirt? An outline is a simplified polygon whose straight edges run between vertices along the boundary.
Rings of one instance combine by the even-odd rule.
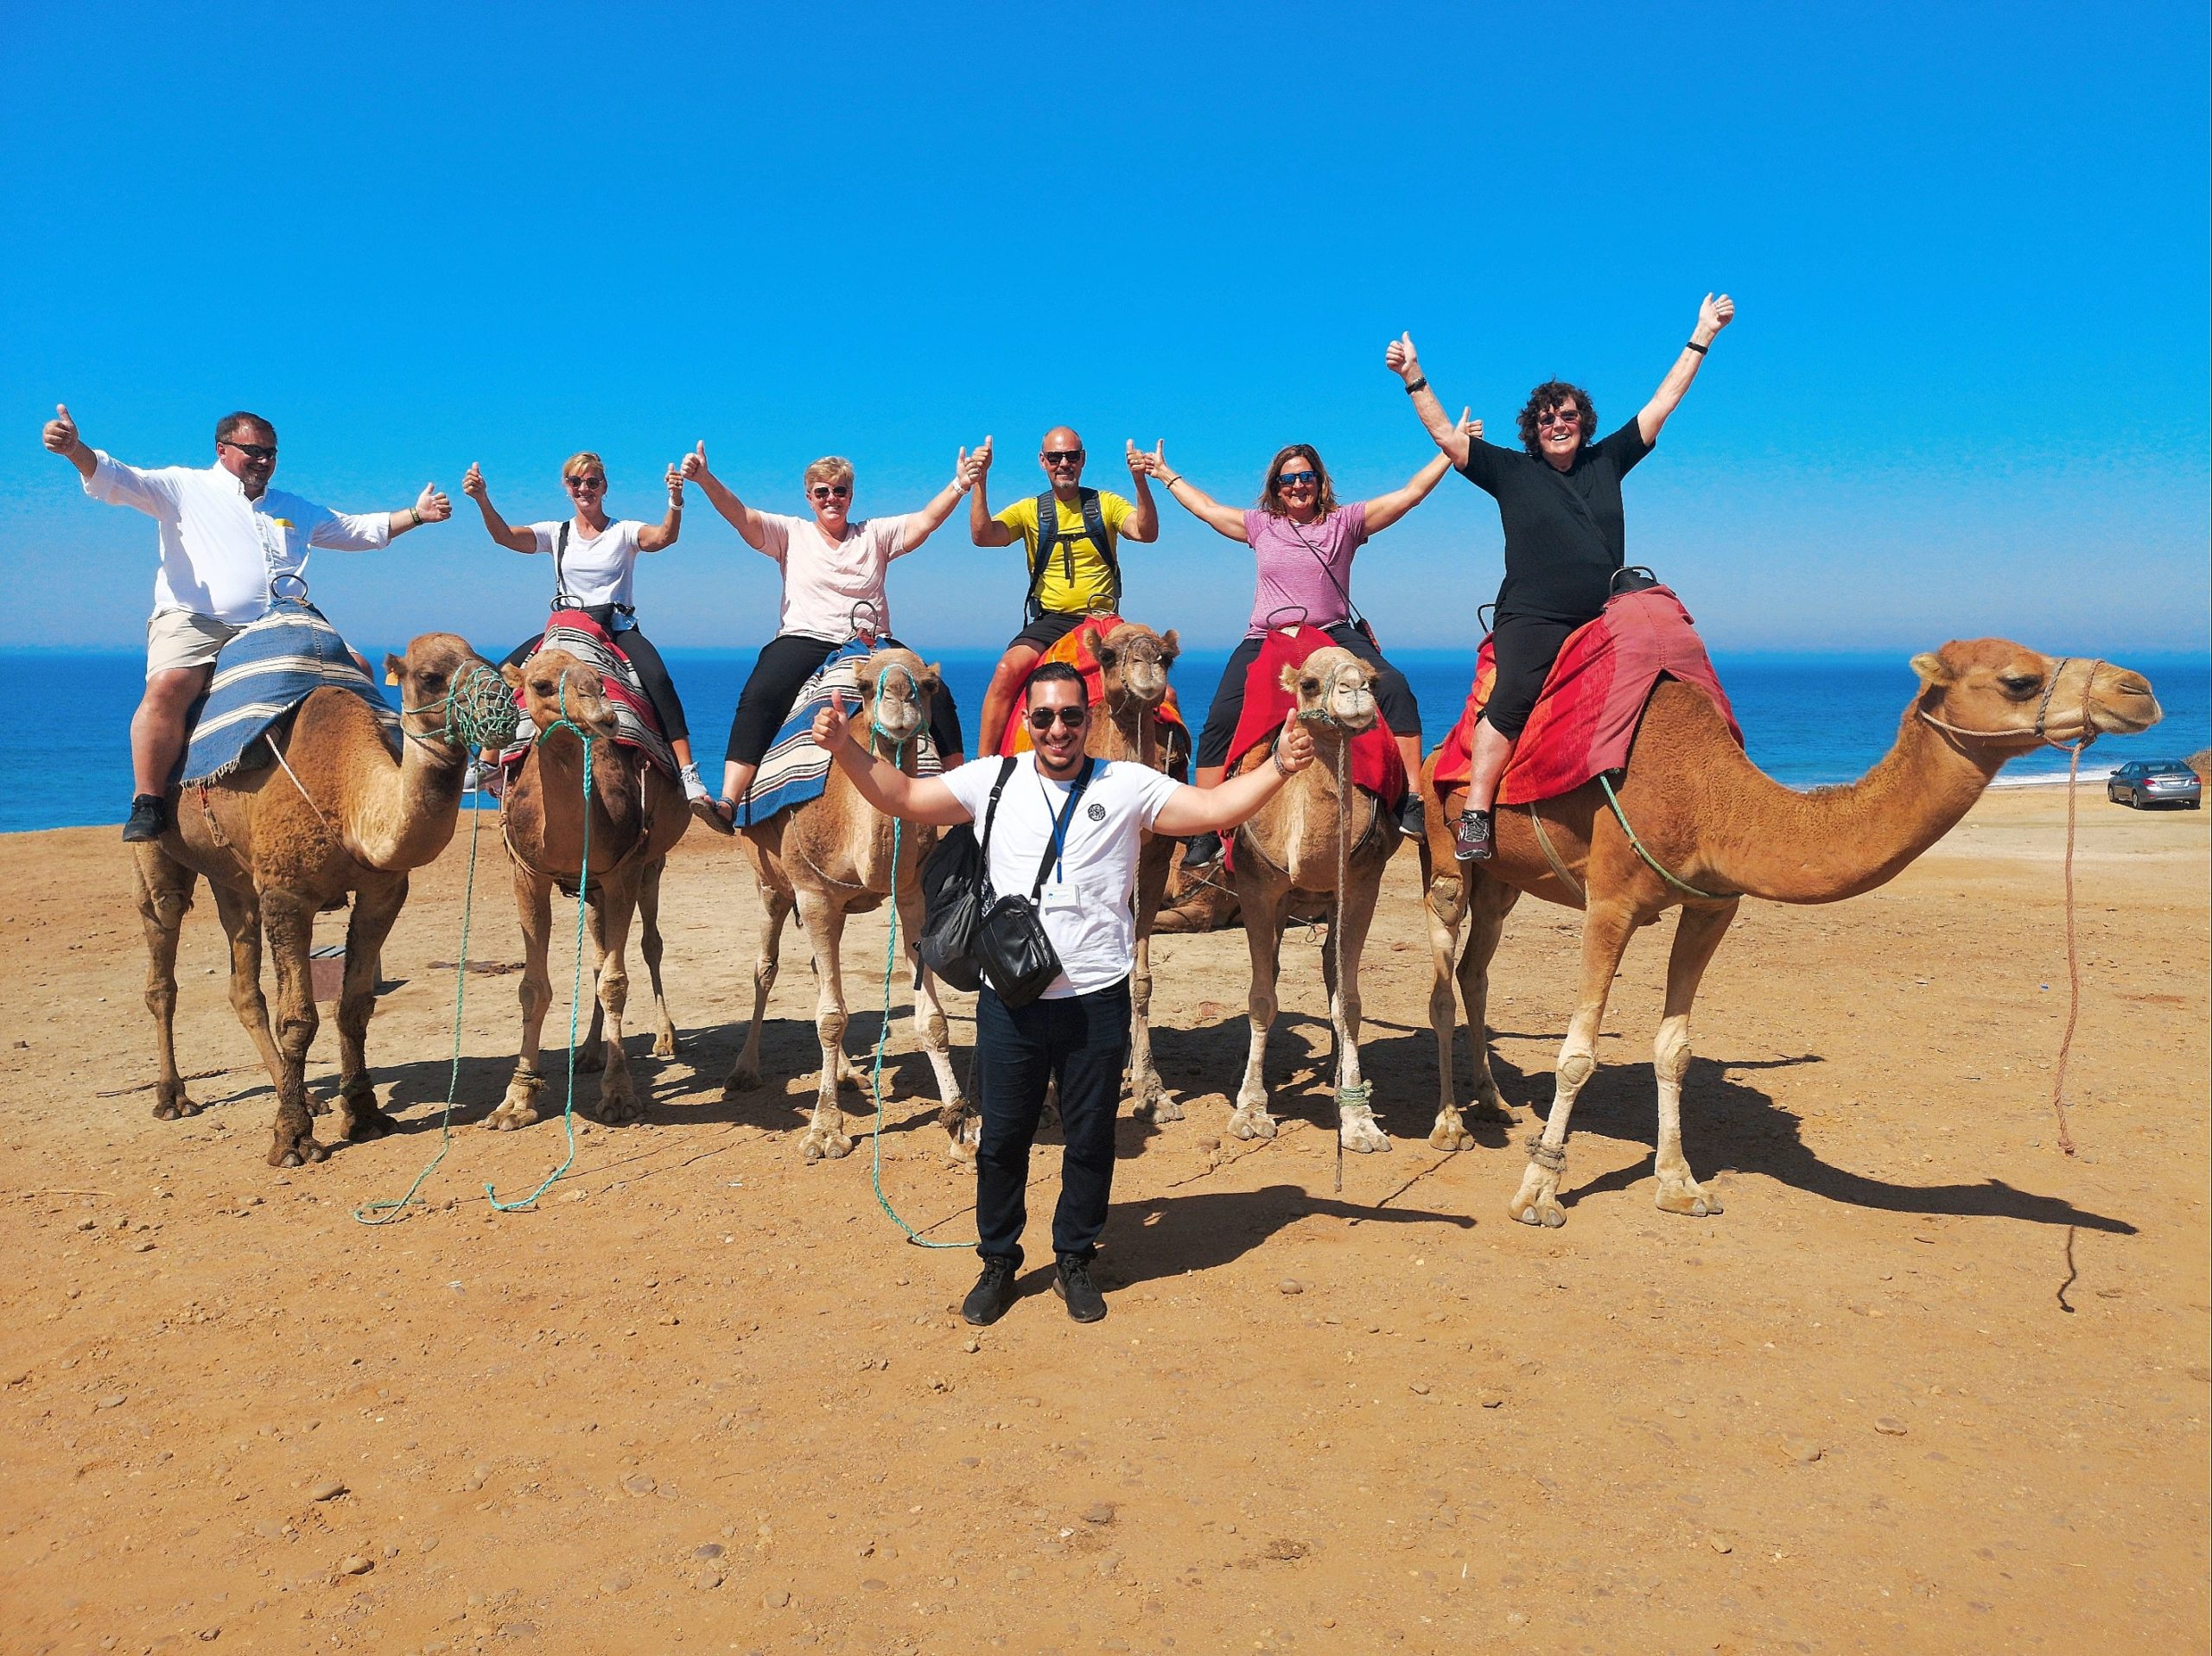
[[[146,926],[146,1010],[161,1052],[155,1117],[199,1114],[177,1075],[177,931],[199,878],[230,940],[230,1006],[261,1048],[276,1083],[270,1167],[323,1161],[307,1099],[314,984],[307,951],[314,915],[347,893],[345,986],[338,995],[338,1136],[380,1139],[394,1130],[376,1108],[363,1044],[376,1010],[376,960],[407,902],[407,871],[431,862],[453,838],[469,752],[451,727],[451,692],[471,670],[491,672],[451,632],[425,632],[405,657],[385,657],[400,685],[409,741],[392,758],[376,714],[361,696],[323,688],[276,736],[283,765],[192,785],[170,800],[170,829],[135,847],[137,904]],[[261,995],[261,940],[276,960],[276,1035]]]

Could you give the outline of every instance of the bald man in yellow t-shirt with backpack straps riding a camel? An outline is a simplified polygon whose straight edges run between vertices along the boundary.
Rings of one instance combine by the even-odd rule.
[[[991,473],[991,440],[969,455],[982,471],[969,493],[969,537],[978,546],[1013,546],[1029,553],[1029,615],[1013,635],[1006,654],[998,659],[991,674],[991,694],[982,703],[982,743],[975,752],[995,754],[1006,732],[1006,714],[1022,694],[1029,670],[1037,657],[1075,630],[1093,610],[1121,608],[1121,564],[1117,542],[1159,539],[1159,506],[1146,484],[1146,471],[1137,460],[1137,444],[1128,444],[1128,478],[1135,502],[1106,489],[1084,489],[1084,440],[1068,427],[1055,425],[1044,433],[1037,464],[1044,469],[1048,493],[1018,500],[1006,511],[991,515],[984,497],[984,482]],[[1053,522],[1040,531],[1040,504],[1051,500]],[[1042,542],[1042,544],[1040,544]],[[1104,544],[1102,544],[1104,542]]]

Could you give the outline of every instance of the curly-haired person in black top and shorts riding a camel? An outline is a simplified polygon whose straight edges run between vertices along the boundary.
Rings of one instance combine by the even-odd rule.
[[[1498,778],[1513,758],[1544,677],[1566,635],[1595,621],[1626,564],[1621,478],[1659,442],[1659,427],[1690,389],[1705,347],[1736,314],[1728,294],[1705,294],[1697,327],[1674,367],[1635,420],[1608,438],[1597,436],[1597,409],[1566,380],[1544,380],[1520,411],[1520,449],[1471,438],[1451,416],[1413,356],[1413,336],[1391,340],[1383,360],[1405,380],[1413,411],[1467,480],[1498,500],[1506,531],[1506,579],[1498,588],[1491,643],[1498,679],[1475,721],[1473,776],[1460,816],[1455,851],[1462,862],[1491,856],[1491,803]]]

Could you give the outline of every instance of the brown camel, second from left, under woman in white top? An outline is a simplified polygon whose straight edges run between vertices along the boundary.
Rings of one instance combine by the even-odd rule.
[[[690,827],[684,792],[637,754],[613,741],[615,712],[597,668],[566,650],[540,650],[504,679],[526,699],[538,730],[522,767],[500,800],[500,831],[515,867],[515,913],[522,918],[522,1057],[500,1108],[484,1117],[498,1132],[538,1121],[538,1039],[553,982],[546,953],[553,935],[553,887],[575,893],[584,851],[584,738],[591,743],[591,887],[584,909],[599,960],[591,1035],[577,1052],[580,1070],[599,1070],[599,1121],[624,1125],[644,1117],[630,1061],[622,1048],[622,1013],[630,999],[626,951],[630,915],[639,922],[639,953],[653,979],[657,1035],[653,1057],[675,1057],[677,1026],[661,988],[661,871],[668,851]],[[602,1037],[604,1024],[604,1037]]]

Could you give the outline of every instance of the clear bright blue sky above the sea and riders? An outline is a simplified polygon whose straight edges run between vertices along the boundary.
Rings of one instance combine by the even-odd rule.
[[[2117,18],[2117,13],[2115,13]],[[1610,425],[1708,287],[1739,301],[1628,484],[1628,546],[1723,650],[2208,643],[2208,27],[2081,7],[11,9],[0,559],[18,641],[142,637],[153,531],[38,449],[204,464],[449,526],[316,557],[358,637],[520,637],[551,588],[460,497],[562,511],[599,449],[653,515],[703,438],[763,506],[816,453],[860,511],[995,433],[995,504],[1075,422],[1248,500],[1283,442],[1347,495],[1429,453],[1380,365],[1511,431]],[[1166,506],[1130,615],[1225,646],[1250,562]],[[774,566],[703,502],[648,562],[670,646],[759,646]],[[1360,557],[1385,643],[1453,646],[1498,515],[1447,478]],[[902,635],[995,643],[1015,555],[958,520]]]

